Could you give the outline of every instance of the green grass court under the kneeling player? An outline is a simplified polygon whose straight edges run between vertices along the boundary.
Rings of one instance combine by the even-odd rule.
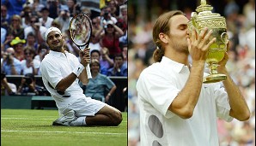
[[[127,145],[127,113],[119,126],[52,126],[58,110],[1,109],[1,146]]]

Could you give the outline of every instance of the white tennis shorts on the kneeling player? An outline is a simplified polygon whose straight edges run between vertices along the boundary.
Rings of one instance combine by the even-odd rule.
[[[67,106],[63,111],[75,110],[76,116],[94,116],[101,108],[106,105],[105,102],[94,100],[90,97],[80,98]]]

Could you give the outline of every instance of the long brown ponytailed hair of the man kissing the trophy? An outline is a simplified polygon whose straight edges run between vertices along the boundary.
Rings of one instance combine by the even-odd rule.
[[[165,33],[169,34],[170,31],[170,23],[169,20],[174,15],[185,15],[180,10],[173,10],[169,11],[167,13],[164,13],[158,17],[158,19],[155,22],[155,25],[153,26],[153,40],[157,46],[156,50],[153,53],[153,58],[155,62],[162,61],[162,56],[164,55],[165,49],[162,47],[162,40],[159,38],[159,33]]]

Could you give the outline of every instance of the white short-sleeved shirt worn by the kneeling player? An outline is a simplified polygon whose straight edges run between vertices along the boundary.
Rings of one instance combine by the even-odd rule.
[[[50,50],[41,62],[40,72],[42,74],[43,83],[54,98],[57,107],[60,111],[77,99],[85,98],[82,88],[76,79],[69,88],[66,89],[64,95],[55,90],[56,85],[61,79],[72,73],[73,69],[80,64],[76,55],[67,51],[64,53]],[[52,87],[51,87],[52,85]]]

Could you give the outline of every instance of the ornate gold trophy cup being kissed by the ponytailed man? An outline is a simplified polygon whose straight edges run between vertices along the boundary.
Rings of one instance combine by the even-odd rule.
[[[210,45],[207,55],[206,63],[210,69],[210,75],[204,77],[204,83],[215,83],[227,79],[225,74],[217,73],[218,62],[222,61],[229,41],[226,20],[219,14],[211,13],[212,9],[205,0],[201,0],[201,5],[196,9],[198,14],[192,12],[191,20],[187,24],[190,34],[192,27],[195,27],[199,33],[207,26],[208,30],[213,31],[211,37],[216,38],[216,42]]]

